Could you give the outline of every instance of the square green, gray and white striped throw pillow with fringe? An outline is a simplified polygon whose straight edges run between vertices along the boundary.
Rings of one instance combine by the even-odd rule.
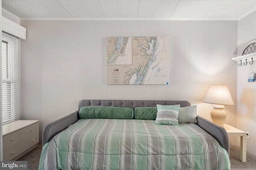
[[[156,105],[157,114],[155,124],[157,125],[178,125],[180,105]]]

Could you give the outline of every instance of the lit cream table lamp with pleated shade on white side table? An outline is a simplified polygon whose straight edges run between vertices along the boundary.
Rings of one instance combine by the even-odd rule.
[[[223,105],[233,105],[234,102],[228,90],[228,86],[225,85],[210,85],[208,88],[203,102],[215,104],[211,111],[211,118],[214,123],[223,127],[223,123],[226,119],[226,112]]]

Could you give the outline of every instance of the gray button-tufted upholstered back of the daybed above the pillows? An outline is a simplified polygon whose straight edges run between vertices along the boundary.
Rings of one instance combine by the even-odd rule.
[[[81,100],[78,104],[78,109],[83,106],[113,106],[113,107],[152,107],[157,104],[161,105],[176,105],[180,107],[191,106],[188,101],[179,100]]]

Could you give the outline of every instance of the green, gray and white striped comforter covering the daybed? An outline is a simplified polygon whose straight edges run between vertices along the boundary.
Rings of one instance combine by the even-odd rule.
[[[228,153],[194,123],[79,119],[44,145],[43,170],[226,170]]]

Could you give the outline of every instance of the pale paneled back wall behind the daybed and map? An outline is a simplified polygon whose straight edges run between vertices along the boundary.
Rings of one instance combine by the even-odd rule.
[[[44,126],[78,109],[82,99],[188,100],[210,118],[202,102],[210,84],[228,85],[235,105],[226,122],[236,126],[237,21],[21,20],[22,119]],[[106,37],[169,36],[169,85],[107,85]],[[235,143],[236,141],[231,141]]]

